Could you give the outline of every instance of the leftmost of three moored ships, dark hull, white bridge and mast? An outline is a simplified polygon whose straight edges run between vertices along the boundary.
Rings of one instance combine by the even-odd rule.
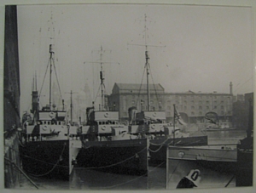
[[[54,65],[51,44],[49,54],[49,77],[51,77],[52,65]],[[51,95],[49,96],[49,105],[39,110],[39,96],[35,86],[32,91],[32,114],[26,112],[22,117],[23,131],[20,143],[22,167],[33,177],[69,179],[82,146],[79,139],[81,127],[72,125],[72,122],[67,120],[64,100],[62,100],[62,109],[57,110],[55,105],[51,105]]]

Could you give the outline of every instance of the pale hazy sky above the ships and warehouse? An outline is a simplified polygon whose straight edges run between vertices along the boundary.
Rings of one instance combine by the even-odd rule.
[[[88,103],[96,99],[101,59],[107,94],[114,82],[146,83],[145,45],[150,58],[149,82],[160,83],[166,93],[227,94],[230,82],[234,94],[253,92],[250,8],[69,4],[19,5],[17,10],[21,111],[30,108],[35,74],[41,89],[49,44],[54,45],[64,99],[70,98],[67,93],[71,90],[81,93],[84,88]],[[46,77],[42,93],[48,84]],[[42,98],[44,101],[48,95],[42,94]]]

